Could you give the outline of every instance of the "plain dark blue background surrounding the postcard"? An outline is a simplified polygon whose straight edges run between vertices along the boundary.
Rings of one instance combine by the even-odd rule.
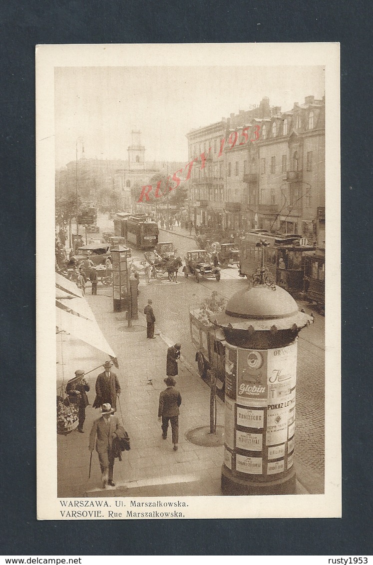
[[[0,553],[372,554],[372,374],[368,370],[372,341],[372,12],[368,6],[361,0],[2,3]],[[38,522],[35,45],[297,41],[341,43],[343,518]],[[229,505],[229,499],[226,503]]]

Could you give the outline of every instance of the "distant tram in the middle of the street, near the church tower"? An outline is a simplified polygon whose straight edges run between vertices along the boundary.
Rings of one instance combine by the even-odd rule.
[[[114,233],[138,249],[154,249],[158,243],[158,224],[146,215],[119,212],[114,218]]]

